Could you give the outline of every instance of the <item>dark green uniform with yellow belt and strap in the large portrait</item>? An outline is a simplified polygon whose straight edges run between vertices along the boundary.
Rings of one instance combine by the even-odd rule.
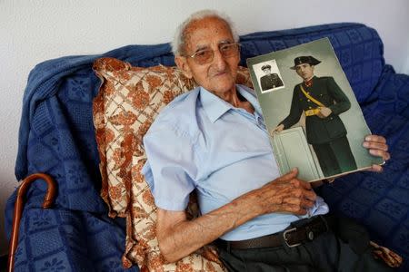
[[[280,124],[284,125],[284,129],[290,128],[299,121],[304,111],[306,139],[313,145],[324,176],[356,170],[347,132],[339,117],[351,107],[351,102],[333,77],[314,76],[311,81],[308,86],[305,83],[295,85],[290,114]],[[313,99],[308,98],[303,90]],[[318,117],[319,106],[313,100],[324,104],[332,113],[325,118]]]

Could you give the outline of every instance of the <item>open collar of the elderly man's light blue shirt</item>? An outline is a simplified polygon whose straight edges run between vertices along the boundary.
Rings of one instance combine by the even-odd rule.
[[[255,98],[254,91],[242,85],[235,85],[235,87],[237,91],[253,105],[255,112],[261,114],[260,104]],[[217,121],[217,119],[219,119],[225,112],[234,109],[232,104],[225,102],[223,99],[219,98],[214,93],[207,91],[202,86],[200,87],[200,101],[202,102],[207,117],[212,122]]]

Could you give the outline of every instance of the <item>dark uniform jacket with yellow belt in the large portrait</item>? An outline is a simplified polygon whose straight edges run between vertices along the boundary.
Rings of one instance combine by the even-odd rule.
[[[333,77],[314,76],[312,81],[313,84],[310,87],[306,87],[305,83],[295,85],[290,114],[281,122],[284,124],[284,129],[290,128],[299,121],[303,111],[318,107],[301,91],[301,85],[303,85],[305,92],[309,92],[315,100],[323,103],[332,111],[326,118],[319,118],[316,115],[306,116],[305,129],[308,143],[321,144],[344,137],[346,129],[343,121],[339,118],[339,114],[351,108],[351,102],[338,84],[335,83]]]

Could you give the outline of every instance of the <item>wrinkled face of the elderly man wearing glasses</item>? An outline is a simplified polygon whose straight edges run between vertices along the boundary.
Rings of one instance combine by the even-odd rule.
[[[209,92],[223,95],[224,92],[233,91],[240,54],[224,58],[219,51],[220,44],[234,43],[230,27],[218,18],[208,17],[189,24],[185,34],[185,55],[211,49],[214,59],[210,63],[198,64],[191,57],[177,56],[175,61],[178,67]]]

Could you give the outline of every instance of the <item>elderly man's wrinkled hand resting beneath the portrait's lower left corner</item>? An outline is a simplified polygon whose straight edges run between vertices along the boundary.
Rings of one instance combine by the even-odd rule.
[[[289,212],[304,215],[314,206],[316,194],[311,184],[298,180],[297,174],[298,170],[293,169],[258,189],[258,204],[263,213]]]

